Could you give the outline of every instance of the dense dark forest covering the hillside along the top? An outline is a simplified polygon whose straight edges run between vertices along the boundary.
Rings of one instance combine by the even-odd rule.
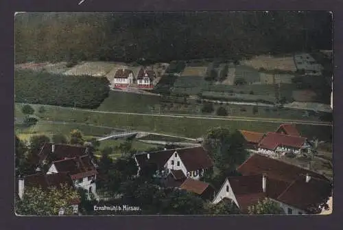
[[[16,62],[235,59],[332,49],[329,12],[27,12]]]

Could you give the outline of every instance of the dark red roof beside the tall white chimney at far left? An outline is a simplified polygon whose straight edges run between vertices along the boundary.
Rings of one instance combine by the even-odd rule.
[[[73,186],[73,181],[67,173],[58,174],[33,174],[24,176],[25,187],[60,187],[62,183],[66,183],[69,186]]]

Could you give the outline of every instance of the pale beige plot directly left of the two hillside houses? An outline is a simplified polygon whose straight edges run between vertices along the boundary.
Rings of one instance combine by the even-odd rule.
[[[115,62],[82,62],[79,65],[71,68],[69,71],[65,72],[65,75],[69,76],[95,76],[102,77],[106,76],[113,68],[118,64]]]

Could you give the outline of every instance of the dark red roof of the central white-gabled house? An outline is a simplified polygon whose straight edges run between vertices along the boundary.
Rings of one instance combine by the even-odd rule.
[[[213,161],[209,157],[208,152],[200,147],[180,148],[176,150],[178,155],[185,165],[187,171],[195,171],[200,169],[211,168]]]

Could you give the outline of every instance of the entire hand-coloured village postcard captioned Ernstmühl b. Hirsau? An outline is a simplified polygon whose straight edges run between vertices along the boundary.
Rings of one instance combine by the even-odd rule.
[[[332,213],[331,12],[14,21],[17,216]]]

